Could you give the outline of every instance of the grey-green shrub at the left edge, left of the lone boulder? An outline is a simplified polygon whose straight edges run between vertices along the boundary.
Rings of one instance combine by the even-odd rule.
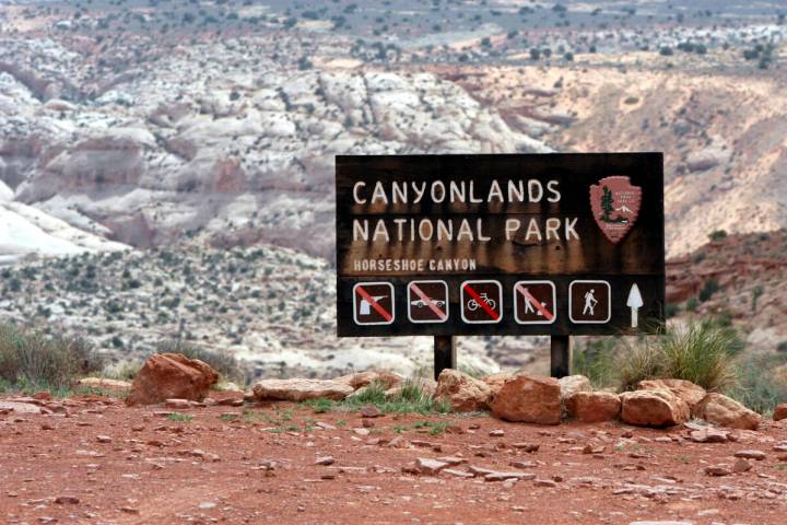
[[[11,388],[68,388],[102,368],[101,355],[86,339],[0,324],[0,378]]]

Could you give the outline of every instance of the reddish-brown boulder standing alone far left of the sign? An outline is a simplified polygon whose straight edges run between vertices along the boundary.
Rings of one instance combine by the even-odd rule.
[[[219,373],[199,359],[156,353],[137,373],[126,402],[153,405],[175,398],[201,401],[218,381]]]

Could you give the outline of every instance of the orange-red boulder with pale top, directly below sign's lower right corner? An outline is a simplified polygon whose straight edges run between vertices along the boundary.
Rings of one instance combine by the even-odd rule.
[[[672,427],[689,420],[689,405],[670,390],[621,394],[621,419],[639,427]]]

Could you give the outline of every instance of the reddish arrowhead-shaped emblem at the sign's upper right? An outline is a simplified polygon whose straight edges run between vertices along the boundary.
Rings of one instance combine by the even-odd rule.
[[[642,188],[629,177],[613,175],[590,186],[590,208],[607,238],[618,244],[626,236],[639,214]]]

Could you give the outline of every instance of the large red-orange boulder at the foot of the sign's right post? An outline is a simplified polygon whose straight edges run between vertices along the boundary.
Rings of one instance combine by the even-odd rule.
[[[560,383],[554,377],[517,374],[492,401],[492,413],[507,421],[557,424],[561,417]]]

